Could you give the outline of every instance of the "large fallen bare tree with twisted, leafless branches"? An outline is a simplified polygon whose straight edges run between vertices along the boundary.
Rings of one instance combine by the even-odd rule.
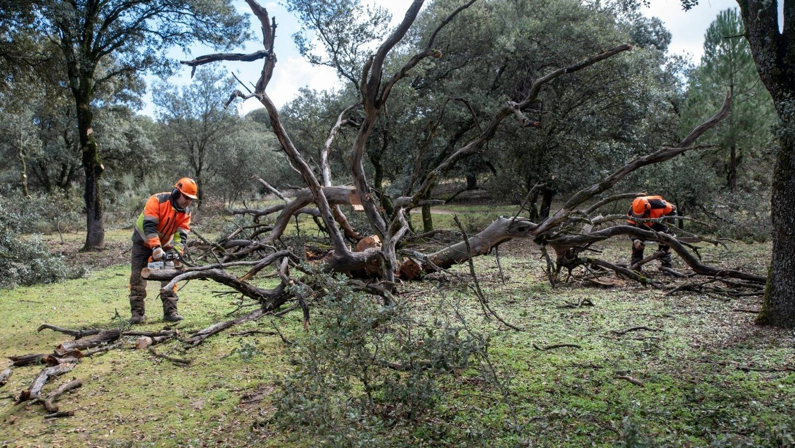
[[[321,154],[328,155],[328,146],[338,133],[340,124],[345,121],[344,117],[346,114],[362,106],[364,114],[363,119],[358,123],[359,130],[351,146],[351,176],[355,183],[352,187],[332,185],[331,170],[328,168],[327,156],[321,158],[321,182],[315,172],[312,171],[312,168],[310,168],[307,160],[304,159],[304,156],[290,140],[285,127],[281,124],[281,118],[276,106],[274,106],[266,93],[266,87],[273,74],[276,63],[275,51],[273,48],[276,23],[270,19],[265,8],[260,6],[258,2],[250,0],[247,3],[262,25],[263,43],[266,51],[260,54],[263,55],[261,59],[264,59],[265,63],[262,76],[255,84],[255,90],[250,91],[248,95],[244,95],[241,91],[235,91],[232,93],[227,104],[234,101],[235,98],[257,98],[262,102],[262,105],[265,106],[269,115],[270,124],[273,128],[273,132],[276,134],[282,151],[288,157],[290,164],[301,173],[307,187],[298,191],[294,199],[289,200],[286,199],[284,195],[281,195],[281,193],[278,193],[277,189],[270,187],[270,185],[266,185],[270,187],[272,191],[278,193],[281,199],[285,199],[285,204],[280,204],[265,210],[235,210],[235,213],[251,214],[256,218],[262,218],[263,216],[278,212],[273,228],[270,230],[270,234],[266,238],[251,241],[248,247],[238,250],[235,253],[235,257],[248,256],[261,249],[263,245],[273,243],[273,241],[281,238],[282,234],[284,234],[293,216],[301,213],[301,210],[312,210],[313,216],[320,217],[324,230],[328,232],[329,242],[332,247],[324,264],[324,270],[326,272],[351,272],[363,268],[369,271],[372,271],[374,268],[380,269],[382,272],[382,285],[386,285],[387,290],[390,290],[390,285],[394,284],[395,272],[398,271],[401,265],[397,253],[399,249],[403,248],[405,242],[413,237],[413,234],[408,230],[409,226],[405,216],[413,207],[427,205],[427,198],[429,198],[429,192],[433,184],[444,172],[448,172],[456,166],[457,163],[461,160],[465,160],[468,156],[479,153],[487,142],[494,137],[498,127],[505,118],[515,117],[518,118],[522,126],[530,128],[536,127],[533,125],[535,122],[526,117],[525,111],[529,110],[529,106],[536,101],[537,95],[546,83],[560,76],[586,69],[594,64],[599,64],[599,62],[603,60],[631,50],[631,46],[628,44],[619,45],[611,50],[601,52],[598,55],[585,58],[579,63],[549,71],[547,75],[535,79],[527,90],[525,98],[518,102],[506,102],[506,104],[500,107],[491,118],[491,121],[480,129],[476,137],[468,141],[465,145],[460,146],[459,149],[442,160],[435,169],[431,170],[429,174],[425,176],[424,180],[417,182],[418,186],[414,189],[412,195],[390,198],[381,191],[374,191],[374,189],[370,187],[363,169],[363,151],[374,127],[374,122],[382,112],[390,92],[396,83],[400,82],[400,80],[421,60],[430,56],[442,56],[433,49],[437,34],[444,25],[454,20],[457,14],[466,10],[473,2],[467,2],[457,10],[454,10],[452,14],[446,17],[434,30],[427,44],[425,44],[425,47],[422,48],[421,51],[411,56],[405,64],[391,76],[386,76],[382,71],[387,54],[394,48],[394,45],[404,37],[422,6],[423,2],[421,0],[414,1],[412,5],[409,6],[409,10],[406,12],[401,24],[382,42],[378,47],[378,51],[370,56],[370,59],[362,68],[362,75],[359,83],[360,100],[358,103],[348,106],[339,114],[334,126],[331,128],[328,139],[324,142],[324,149],[321,151]],[[226,58],[227,56],[224,54],[207,55],[200,56],[195,60],[183,61],[183,64],[196,68],[196,66],[201,64],[227,60]],[[604,227],[605,224],[622,219],[622,216],[605,218],[599,214],[601,207],[608,203],[615,202],[616,200],[631,198],[639,194],[614,195],[600,199],[590,206],[586,205],[587,203],[591,203],[594,199],[597,199],[599,195],[609,191],[616,183],[619,183],[620,180],[638,168],[664,162],[686,151],[704,148],[703,146],[696,145],[696,140],[708,129],[711,129],[718,122],[723,120],[723,118],[727,116],[730,107],[731,96],[727,93],[720,110],[711,118],[708,118],[699,126],[692,129],[692,131],[677,145],[662,148],[649,155],[639,156],[631,160],[628,164],[619,168],[610,176],[594,183],[590,187],[576,192],[564,203],[563,207],[560,207],[560,209],[550,215],[549,218],[545,218],[541,222],[532,222],[527,218],[519,216],[514,216],[514,218],[498,218],[492,222],[491,225],[487,226],[485,230],[471,236],[468,241],[461,241],[455,245],[440,249],[435,253],[425,254],[413,252],[411,253],[411,257],[421,264],[422,270],[432,272],[466,262],[470,257],[490,253],[491,250],[498,247],[498,245],[510,239],[528,238],[535,241],[538,245],[541,245],[541,248],[544,250],[548,246],[554,250],[556,257],[554,260],[550,259],[549,266],[550,280],[553,281],[553,283],[556,281],[557,273],[560,272],[561,267],[566,267],[569,269],[569,272],[571,272],[571,269],[578,265],[598,265],[601,268],[612,269],[619,275],[628,276],[644,284],[659,286],[659,284],[655,282],[650,282],[646,276],[638,274],[637,272],[633,273],[634,271],[630,268],[616,266],[606,261],[599,261],[594,257],[580,257],[580,253],[595,242],[619,235],[632,235],[647,241],[659,241],[662,244],[669,245],[673,251],[679,254],[682,260],[692,268],[693,272],[698,275],[722,276],[751,283],[763,283],[765,281],[764,276],[704,265],[701,263],[698,253],[693,252],[695,248],[692,245],[679,241],[669,234],[662,234],[652,230],[643,230],[638,227],[626,226],[623,224]],[[262,182],[266,183],[264,181]],[[438,200],[434,201],[434,203],[440,202],[441,201]],[[385,207],[384,203],[388,203],[389,207]],[[308,209],[310,204],[315,204],[316,209]],[[339,211],[339,205],[350,205],[363,209],[370,223],[372,233],[382,240],[382,245],[379,247],[370,247],[360,252],[349,249],[346,245],[343,232],[345,232],[349,238],[351,232],[347,230],[347,220]],[[391,213],[387,213],[386,209],[391,210]],[[402,257],[405,251],[400,252]],[[553,270],[554,275],[552,275]],[[159,280],[169,280],[169,278],[164,278],[165,273],[159,275]],[[172,278],[179,278],[180,280],[187,280],[188,278],[209,278],[218,281],[226,279],[224,280],[227,282],[226,284],[232,286],[228,283],[229,279],[227,276],[224,276],[222,272],[215,271],[204,272],[204,274],[201,272],[192,272],[189,275],[180,274],[179,277],[176,277],[175,274]],[[246,276],[246,279],[248,278],[250,278],[250,276]],[[233,286],[233,288],[254,299],[261,297],[260,292],[250,292],[250,294],[246,294],[244,290],[247,287],[243,284],[238,284]]]

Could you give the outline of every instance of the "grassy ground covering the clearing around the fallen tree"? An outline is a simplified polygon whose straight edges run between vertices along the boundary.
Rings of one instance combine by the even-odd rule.
[[[463,206],[456,210],[472,211]],[[474,214],[486,219],[496,212]],[[449,219],[435,218],[437,225]],[[0,292],[0,315],[6,316],[0,319],[0,357],[48,353],[68,340],[49,330],[37,333],[42,322],[70,328],[124,325],[129,316],[124,253],[129,231],[109,234],[108,249],[99,256],[74,253],[80,234],[67,238],[64,252],[83,257],[80,263],[95,268],[86,278]],[[610,261],[629,257],[624,241],[599,249]],[[766,244],[705,248],[704,259],[762,273],[769,249]],[[615,278],[606,280],[609,288],[572,281],[552,289],[541,270],[540,254],[529,241],[511,241],[501,253],[505,283],[494,257],[487,256],[475,261],[481,285],[491,307],[525,331],[483,319],[474,295],[461,288],[466,266],[454,268],[455,276],[403,284],[401,297],[418,316],[438,311],[440,303],[457,303],[473,325],[492,334],[491,356],[501,373],[512,378],[511,400],[537,446],[609,446],[626,435],[626,415],[638,431],[658,442],[683,446],[732,446],[727,440],[735,446],[777,446],[777,438],[784,441],[795,433],[795,372],[738,369],[795,366],[791,330],[754,326],[753,314],[735,311],[758,309],[758,298],[664,295]],[[180,313],[186,319],[179,330],[229,319],[234,300],[216,294],[225,289],[200,281],[185,285]],[[165,325],[156,291],[156,285],[150,285],[145,330]],[[591,299],[595,306],[559,307],[580,299]],[[273,325],[288,338],[302,337],[299,312],[235,327],[187,353],[175,344],[158,346],[161,353],[192,359],[188,366],[127,348],[91,357],[68,373],[84,385],[60,401],[64,410],[76,411],[67,419],[42,419],[41,405],[14,406],[10,396],[25,389],[39,368],[14,369],[9,383],[0,388],[0,446],[314,446],[267,424],[273,415],[269,395],[274,377],[291,368],[281,339],[231,335]],[[630,326],[659,331],[622,336],[612,332]],[[250,348],[248,343],[256,343],[257,350],[241,356],[239,350]],[[541,351],[533,346],[560,343],[580,348]],[[0,369],[6,365],[10,362],[0,361]],[[634,377],[643,385],[617,376]],[[453,392],[443,412],[449,417],[449,431],[462,431],[474,420],[502,425],[504,408]]]

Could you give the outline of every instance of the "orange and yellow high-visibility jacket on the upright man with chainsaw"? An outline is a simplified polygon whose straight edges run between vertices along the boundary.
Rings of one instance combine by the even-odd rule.
[[[149,248],[172,245],[183,252],[190,230],[190,208],[177,209],[172,193],[166,191],[146,200],[144,210],[135,222],[133,241]]]

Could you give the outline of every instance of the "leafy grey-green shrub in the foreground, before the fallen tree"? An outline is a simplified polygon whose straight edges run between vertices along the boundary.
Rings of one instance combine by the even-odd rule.
[[[290,349],[295,369],[277,380],[277,426],[330,446],[466,445],[478,431],[450,434],[441,413],[462,373],[486,356],[484,339],[463,322],[413,321],[346,280],[316,276],[307,283],[320,288],[297,287],[322,311]]]

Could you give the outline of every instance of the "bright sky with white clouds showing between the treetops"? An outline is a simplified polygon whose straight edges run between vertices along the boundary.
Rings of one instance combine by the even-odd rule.
[[[384,6],[392,13],[392,24],[397,25],[411,4],[410,0],[372,0]],[[252,29],[256,29],[255,41],[250,41],[245,48],[235,48],[233,52],[255,52],[262,49],[262,35],[259,32],[259,22],[250,14],[248,6],[240,0],[235,2],[238,10],[250,15]],[[779,17],[783,14],[781,7],[783,2],[778,0]],[[275,17],[277,22],[277,33],[275,52],[277,55],[276,68],[273,71],[273,78],[267,87],[268,95],[277,106],[282,106],[290,99],[294,98],[301,87],[310,87],[316,90],[324,90],[339,86],[334,69],[328,67],[312,67],[298,53],[293,42],[293,33],[299,29],[297,21],[291,14],[281,6],[281,2],[265,2],[264,6],[268,10],[270,17]],[[648,17],[659,17],[665,27],[672,33],[672,41],[669,52],[673,54],[684,54],[692,62],[697,63],[704,54],[704,32],[710,23],[715,20],[718,13],[728,8],[737,7],[735,0],[700,0],[699,5],[692,10],[684,11],[681,8],[680,0],[651,0],[649,7],[642,7],[642,14]],[[781,25],[780,25],[781,26]],[[215,52],[212,48],[195,45],[191,48],[188,55],[181,51],[173,51],[169,56],[178,60],[190,60],[196,56],[202,56]],[[234,71],[239,79],[244,83],[256,83],[262,71],[262,61],[257,62],[226,62],[223,63],[227,70]],[[147,85],[151,86],[156,78],[148,76]],[[190,82],[190,68],[185,68],[178,74],[168,79],[169,83],[178,85]],[[250,84],[249,84],[250,86]],[[238,86],[242,89],[242,87]],[[152,105],[151,91],[148,91],[145,98],[145,108],[142,113],[155,116],[157,110]],[[261,107],[261,104],[254,98],[250,98],[244,103],[238,101],[238,111],[247,114],[251,110]]]

